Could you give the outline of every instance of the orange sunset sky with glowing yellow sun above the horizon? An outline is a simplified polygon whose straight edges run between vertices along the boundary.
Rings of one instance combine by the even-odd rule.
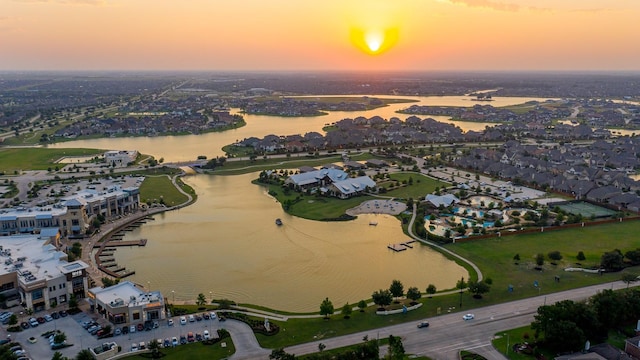
[[[638,0],[0,0],[0,71],[640,71]]]

